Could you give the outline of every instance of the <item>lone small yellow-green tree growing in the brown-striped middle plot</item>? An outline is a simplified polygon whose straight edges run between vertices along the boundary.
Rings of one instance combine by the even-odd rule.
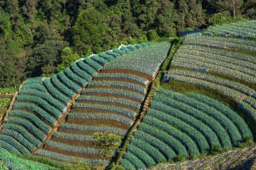
[[[121,142],[121,136],[113,133],[96,132],[92,135],[92,144],[98,149],[103,159],[110,157]]]

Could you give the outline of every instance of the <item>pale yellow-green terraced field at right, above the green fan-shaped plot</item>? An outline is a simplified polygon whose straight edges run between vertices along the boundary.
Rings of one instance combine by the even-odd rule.
[[[166,77],[173,84],[183,82],[216,91],[233,102],[230,107],[255,120],[255,49],[253,40],[188,36],[174,54]]]

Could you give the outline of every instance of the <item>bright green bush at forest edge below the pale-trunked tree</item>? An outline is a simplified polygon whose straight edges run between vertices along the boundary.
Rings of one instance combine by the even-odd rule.
[[[215,13],[210,19],[209,23],[216,26],[221,24],[229,24],[234,22],[233,17],[230,15],[229,11],[224,11],[221,13]]]

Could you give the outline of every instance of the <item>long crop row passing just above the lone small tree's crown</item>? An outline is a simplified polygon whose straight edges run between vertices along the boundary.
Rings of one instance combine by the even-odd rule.
[[[60,126],[60,128],[63,129],[69,129],[69,130],[79,130],[79,131],[88,131],[88,132],[112,132],[115,134],[122,134],[125,135],[127,133],[126,130],[123,130],[121,128],[115,128],[110,126],[86,126],[86,125],[80,125],[80,124],[63,124]]]

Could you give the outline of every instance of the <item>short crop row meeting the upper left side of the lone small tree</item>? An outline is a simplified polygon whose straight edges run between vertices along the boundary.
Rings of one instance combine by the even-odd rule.
[[[53,136],[57,138],[65,138],[69,140],[78,140],[78,141],[85,141],[85,142],[92,141],[92,136],[86,135],[86,134],[73,134],[73,133],[57,131]]]

